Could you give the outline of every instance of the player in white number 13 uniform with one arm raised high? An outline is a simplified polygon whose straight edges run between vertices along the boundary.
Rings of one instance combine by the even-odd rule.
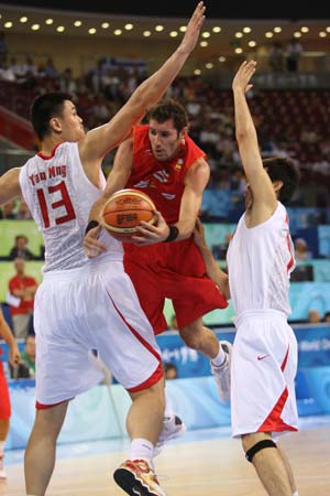
[[[45,244],[34,309],[36,417],[25,452],[26,494],[46,492],[68,401],[102,378],[95,360],[88,362],[94,348],[133,400],[127,419],[129,460],[114,479],[130,495],[165,495],[150,465],[164,413],[160,349],[124,273],[122,244],[106,235],[107,252],[90,260],[82,239],[90,207],[106,184],[102,159],[176,77],[198,40],[204,12],[199,2],[178,48],[105,126],[85,134],[69,95],[36,98],[32,123],[41,152],[0,179],[0,204],[23,196]]]

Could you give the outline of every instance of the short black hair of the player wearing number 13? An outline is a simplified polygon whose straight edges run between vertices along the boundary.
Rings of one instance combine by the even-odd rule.
[[[65,100],[72,99],[72,95],[64,91],[45,93],[34,99],[31,106],[31,121],[40,140],[48,134],[50,120],[62,116]]]

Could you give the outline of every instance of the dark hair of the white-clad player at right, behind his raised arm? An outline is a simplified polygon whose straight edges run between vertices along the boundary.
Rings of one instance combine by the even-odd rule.
[[[274,157],[263,160],[263,165],[267,170],[272,183],[282,181],[283,186],[278,193],[278,200],[287,203],[299,183],[300,172],[297,165],[287,157]]]

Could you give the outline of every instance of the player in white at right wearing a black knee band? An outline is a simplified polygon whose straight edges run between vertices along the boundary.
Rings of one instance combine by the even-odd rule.
[[[195,240],[208,274],[232,299],[237,334],[231,358],[232,434],[241,438],[271,496],[298,495],[285,453],[272,433],[297,431],[295,397],[297,342],[287,323],[294,249],[287,202],[299,174],[288,159],[262,161],[245,93],[255,62],[244,62],[233,79],[235,133],[246,175],[245,213],[229,245],[228,274],[206,245],[199,223]]]

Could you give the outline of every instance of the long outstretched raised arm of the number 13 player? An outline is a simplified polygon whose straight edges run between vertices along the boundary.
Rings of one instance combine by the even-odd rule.
[[[143,117],[175,79],[189,54],[194,50],[205,19],[204,2],[199,2],[188,25],[185,36],[162,67],[144,80],[132,94],[127,104],[105,126],[89,131],[79,143],[84,166],[95,166],[95,162],[117,147],[130,132],[131,128]]]

